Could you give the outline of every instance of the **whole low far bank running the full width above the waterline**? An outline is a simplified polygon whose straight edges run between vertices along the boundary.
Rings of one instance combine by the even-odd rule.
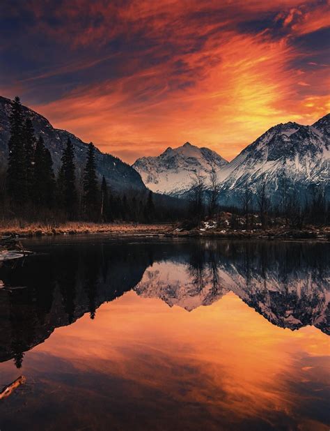
[[[134,223],[92,223],[67,222],[56,227],[38,223],[26,225],[0,226],[0,236],[14,235],[21,237],[74,235],[74,234],[109,234],[111,236],[167,236],[174,238],[205,237],[218,239],[317,239],[330,240],[330,227],[272,227],[271,229],[223,229],[201,227],[186,230],[174,224],[134,224]]]

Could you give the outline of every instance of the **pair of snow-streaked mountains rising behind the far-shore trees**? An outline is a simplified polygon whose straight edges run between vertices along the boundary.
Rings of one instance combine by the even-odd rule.
[[[273,203],[281,200],[281,184],[304,200],[306,191],[324,186],[330,197],[330,114],[312,126],[281,123],[267,130],[246,146],[231,162],[210,149],[187,142],[169,147],[157,157],[143,157],[133,167],[151,190],[187,197],[191,179],[199,173],[210,178],[212,167],[221,183],[219,203],[239,206],[246,187],[254,195],[262,181],[267,182]],[[205,181],[207,185],[207,181]]]

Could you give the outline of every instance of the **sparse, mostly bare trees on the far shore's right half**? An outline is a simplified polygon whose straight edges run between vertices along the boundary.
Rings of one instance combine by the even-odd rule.
[[[308,224],[329,224],[330,205],[324,186],[297,189],[283,172],[276,187],[275,199],[274,183],[262,174],[255,188],[246,183],[237,206],[226,206],[219,204],[222,190],[215,169],[210,173],[208,184],[205,176],[196,173],[188,194],[191,222],[198,225],[205,217],[217,218],[219,212],[226,211],[231,213],[230,226],[234,229],[242,228],[242,219],[245,229],[267,229],[276,219],[285,226],[298,229]]]

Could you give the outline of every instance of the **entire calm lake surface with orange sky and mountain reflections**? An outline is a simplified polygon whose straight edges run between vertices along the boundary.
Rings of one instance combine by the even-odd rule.
[[[2,263],[0,430],[329,430],[327,243],[41,239]]]

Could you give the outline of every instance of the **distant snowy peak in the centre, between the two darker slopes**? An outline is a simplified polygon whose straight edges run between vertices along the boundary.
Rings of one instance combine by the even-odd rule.
[[[139,158],[133,167],[150,190],[180,197],[191,188],[196,173],[207,182],[212,169],[219,174],[227,164],[215,151],[186,142],[175,149],[168,147],[160,156]]]

